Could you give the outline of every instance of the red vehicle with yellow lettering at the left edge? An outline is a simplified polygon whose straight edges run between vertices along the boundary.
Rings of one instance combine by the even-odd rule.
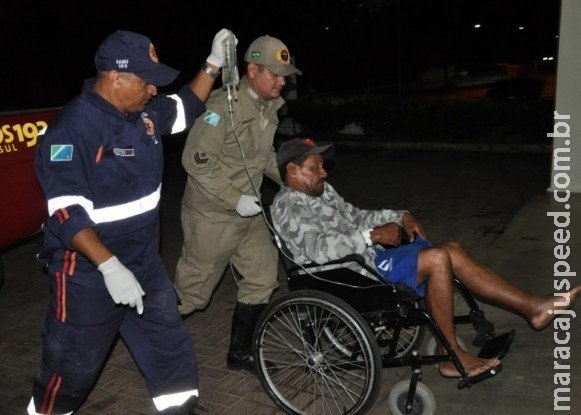
[[[58,109],[0,112],[0,254],[40,233],[48,216],[34,154],[38,137]],[[3,269],[0,278],[1,284]]]

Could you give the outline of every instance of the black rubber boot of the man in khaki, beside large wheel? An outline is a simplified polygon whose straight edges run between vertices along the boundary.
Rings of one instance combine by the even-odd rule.
[[[230,349],[226,363],[229,369],[246,369],[256,373],[256,361],[252,352],[252,335],[260,313],[266,304],[236,303],[232,318],[232,332],[230,334]]]

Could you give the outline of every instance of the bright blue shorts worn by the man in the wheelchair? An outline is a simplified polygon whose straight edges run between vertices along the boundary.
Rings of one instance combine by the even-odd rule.
[[[375,248],[374,259],[377,272],[392,284],[401,282],[410,287],[418,295],[426,295],[426,284],[417,284],[418,256],[424,248],[433,246],[430,241],[419,236],[411,243],[393,248]]]

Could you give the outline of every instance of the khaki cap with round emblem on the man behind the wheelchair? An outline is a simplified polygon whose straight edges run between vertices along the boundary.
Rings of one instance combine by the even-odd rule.
[[[291,63],[288,48],[280,39],[261,36],[255,39],[244,54],[244,61],[264,65],[277,76],[302,75]]]

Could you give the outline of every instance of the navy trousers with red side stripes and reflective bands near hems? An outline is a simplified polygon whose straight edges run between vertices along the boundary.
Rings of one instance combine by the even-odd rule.
[[[42,325],[42,361],[33,386],[38,413],[77,410],[119,335],[154,401],[192,390],[197,394],[194,345],[180,318],[175,290],[161,258],[149,265],[136,274],[145,291],[142,315],[116,305],[98,271],[72,276],[49,272],[51,303]]]

